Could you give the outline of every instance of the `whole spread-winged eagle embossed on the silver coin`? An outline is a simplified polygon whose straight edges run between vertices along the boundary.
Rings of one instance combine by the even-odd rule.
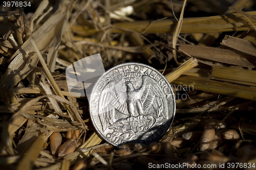
[[[124,132],[138,133],[152,127],[156,119],[168,119],[167,95],[160,84],[143,75],[141,86],[136,89],[132,81],[116,87],[108,82],[101,91],[98,113],[102,131],[108,127],[119,127]]]

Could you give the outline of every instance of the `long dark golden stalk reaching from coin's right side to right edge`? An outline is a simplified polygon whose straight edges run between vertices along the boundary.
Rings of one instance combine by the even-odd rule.
[[[236,96],[247,100],[256,101],[256,90],[255,88],[236,85],[231,83],[224,83],[207,78],[198,78],[194,76],[182,76],[173,81],[175,84],[181,84],[193,86],[194,89],[203,90],[213,93],[219,93],[224,95]]]

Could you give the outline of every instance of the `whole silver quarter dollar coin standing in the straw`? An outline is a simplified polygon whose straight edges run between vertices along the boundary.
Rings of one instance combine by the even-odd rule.
[[[92,123],[107,142],[119,146],[161,139],[175,115],[175,95],[165,77],[151,66],[119,64],[106,71],[90,98]]]

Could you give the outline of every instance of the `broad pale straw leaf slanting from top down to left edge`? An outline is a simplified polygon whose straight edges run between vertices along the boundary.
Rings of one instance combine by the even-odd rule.
[[[52,15],[44,25],[42,25],[33,34],[35,43],[39,47],[38,50],[41,52],[45,51],[50,42],[60,34],[58,27],[61,27],[61,21],[67,15],[67,1],[63,1],[60,6],[62,8],[59,8],[55,14]],[[27,40],[15,52],[9,61],[11,61],[11,63],[9,64],[5,74],[0,79],[0,95],[6,103],[17,103],[15,95],[9,91],[9,88],[14,87],[18,82],[23,80],[38,62],[38,58],[34,55],[33,46],[30,40]]]

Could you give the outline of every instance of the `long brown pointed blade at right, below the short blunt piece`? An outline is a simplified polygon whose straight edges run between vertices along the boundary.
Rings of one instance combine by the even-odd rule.
[[[222,48],[181,44],[179,46],[179,50],[193,57],[198,57],[226,64],[240,65],[244,67],[255,67],[256,65],[253,56]]]

